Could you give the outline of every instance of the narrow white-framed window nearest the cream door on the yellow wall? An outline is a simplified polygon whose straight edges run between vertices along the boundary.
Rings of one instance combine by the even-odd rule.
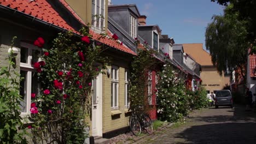
[[[111,69],[111,108],[118,109],[118,67],[112,66]]]

